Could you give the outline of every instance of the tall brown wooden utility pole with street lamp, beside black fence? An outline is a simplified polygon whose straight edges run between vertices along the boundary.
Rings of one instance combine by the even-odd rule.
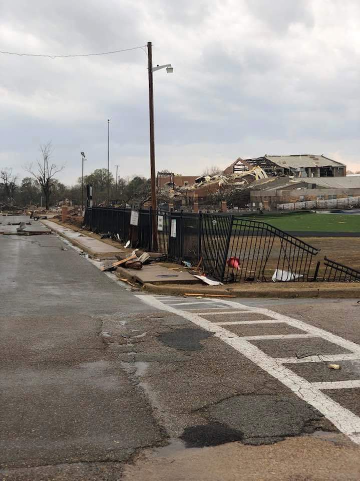
[[[150,118],[150,178],[151,178],[151,207],[153,215],[153,249],[157,247],[156,233],[156,181],[155,181],[155,132],[154,132],[154,88],[153,88],[153,72],[165,69],[168,74],[172,74],[174,69],[171,64],[157,65],[153,67],[153,51],[152,43],[148,42],[148,73],[149,73],[149,118]]]

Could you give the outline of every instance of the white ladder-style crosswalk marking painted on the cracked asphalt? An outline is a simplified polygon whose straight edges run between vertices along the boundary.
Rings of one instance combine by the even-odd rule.
[[[203,311],[203,307],[199,307],[197,310],[200,312],[192,312],[196,309],[193,307],[186,309],[188,305],[193,305],[194,300],[188,302],[176,303],[179,298],[161,297],[161,296],[144,296],[138,295],[143,302],[150,304],[160,310],[165,310],[181,316],[182,318],[196,324],[197,326],[211,332],[215,337],[221,339],[224,343],[233,347],[236,351],[240,352],[243,356],[250,359],[257,366],[261,367],[268,374],[282,382],[285,386],[291,389],[298,397],[311,404],[319,412],[321,412],[329,421],[331,421],[342,433],[349,436],[349,438],[360,444],[360,417],[356,416],[353,412],[347,408],[341,406],[338,402],[328,397],[323,391],[327,389],[352,389],[360,387],[360,379],[349,381],[328,381],[328,382],[309,382],[303,377],[295,374],[284,364],[297,364],[303,362],[321,362],[321,361],[337,361],[337,360],[360,360],[360,346],[352,341],[348,341],[340,336],[336,336],[328,331],[320,328],[316,328],[310,324],[306,324],[297,319],[284,316],[282,314],[270,311],[269,309],[263,309],[259,307],[250,307],[240,304],[235,301],[227,300],[213,300],[213,299],[200,299],[199,304],[214,306],[223,306],[223,311],[216,313],[206,313]],[[169,302],[170,300],[170,302]],[[166,301],[166,302],[164,302]],[[197,304],[197,302],[196,302]],[[177,306],[181,306],[180,309]],[[206,308],[207,309],[207,308]],[[213,308],[212,308],[213,309]],[[237,315],[241,317],[241,314],[255,313],[259,316],[258,320],[249,321],[244,319],[243,321],[224,321],[224,322],[211,322],[205,317],[209,315]],[[265,316],[269,319],[261,319]],[[257,336],[239,336],[233,332],[225,329],[227,326],[231,329],[232,325],[241,324],[256,324],[264,325],[264,328],[268,324],[286,324],[297,330],[304,331],[304,334],[271,334],[271,335],[257,335]],[[281,340],[285,342],[291,339],[322,339],[335,344],[344,350],[349,352],[341,354],[326,354],[326,355],[309,355],[306,358],[276,358],[263,352],[257,346],[250,341],[255,340]]]

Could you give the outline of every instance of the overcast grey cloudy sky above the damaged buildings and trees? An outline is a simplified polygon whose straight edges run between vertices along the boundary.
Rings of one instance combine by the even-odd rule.
[[[358,0],[12,0],[0,50],[86,54],[153,42],[156,168],[324,154],[360,169]],[[145,50],[145,49],[144,49]],[[0,167],[24,177],[52,141],[59,174],[149,176],[147,56],[0,55]]]

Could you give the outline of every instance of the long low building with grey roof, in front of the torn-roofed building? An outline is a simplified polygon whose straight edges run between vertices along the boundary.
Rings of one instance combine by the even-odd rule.
[[[272,209],[278,204],[360,196],[360,176],[293,178],[269,177],[248,187],[253,208]]]

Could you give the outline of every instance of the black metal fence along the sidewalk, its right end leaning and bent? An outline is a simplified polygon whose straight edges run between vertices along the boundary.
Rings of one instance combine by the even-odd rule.
[[[130,239],[134,248],[189,261],[193,266],[201,263],[207,274],[224,282],[309,282],[318,274],[314,257],[319,249],[266,222],[234,215],[142,209],[138,225],[131,226],[130,217],[130,209],[92,207],[86,209],[84,223],[124,242]]]

